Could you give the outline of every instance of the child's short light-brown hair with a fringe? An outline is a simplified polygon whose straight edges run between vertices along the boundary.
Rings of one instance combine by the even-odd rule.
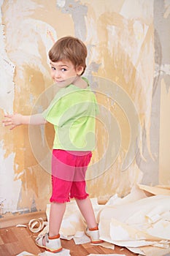
[[[53,62],[69,60],[72,61],[75,68],[83,67],[82,74],[85,72],[87,55],[88,51],[85,44],[76,37],[58,39],[48,53]]]

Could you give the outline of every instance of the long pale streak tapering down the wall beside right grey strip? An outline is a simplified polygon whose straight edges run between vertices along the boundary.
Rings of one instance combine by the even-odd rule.
[[[128,7],[132,7],[130,8],[131,11],[128,10],[128,13],[126,11],[126,4],[128,4]],[[153,28],[151,19],[153,17],[153,2],[144,0],[135,1],[134,4],[134,1],[128,0],[125,1],[120,13],[125,17],[128,17],[128,22],[130,22],[130,18],[134,21],[133,32],[127,28],[126,37],[124,37],[124,40],[121,40],[121,42],[123,42],[122,49],[125,49],[125,45],[128,45],[128,50],[125,49],[125,52],[130,56],[130,58],[132,56],[131,61],[136,69],[136,78],[134,80],[134,86],[136,86],[136,99],[134,100],[136,108],[139,110],[139,113],[141,113],[140,118],[142,121],[142,127],[143,129],[146,129],[147,150],[150,157],[153,159],[150,146],[150,115],[152,111],[152,84],[154,73],[154,42],[152,38]],[[125,34],[125,30],[123,34]],[[130,40],[126,42],[127,39],[125,38],[129,38],[128,34],[130,35],[131,42]],[[134,56],[134,53],[136,56]],[[145,75],[142,75],[143,73]],[[141,96],[142,98],[145,98],[144,101],[139,100],[139,97],[141,98]]]

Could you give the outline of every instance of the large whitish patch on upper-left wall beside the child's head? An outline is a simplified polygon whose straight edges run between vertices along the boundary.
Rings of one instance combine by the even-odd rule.
[[[56,32],[52,26],[43,22],[30,18],[36,9],[41,9],[42,5],[34,1],[15,1],[15,4],[5,4],[4,21],[7,26],[7,49],[9,58],[18,66],[18,77],[24,78],[24,68],[34,67],[38,69],[42,76],[49,78],[47,71],[47,59],[45,63],[42,61],[42,51],[47,56],[48,50],[53,45],[48,31],[51,31],[56,39]],[[15,15],[14,15],[15,13]],[[14,33],[14,29],[15,33]],[[12,38],[12,42],[11,42]],[[42,48],[40,51],[39,48]],[[20,56],[20,58],[18,58]]]

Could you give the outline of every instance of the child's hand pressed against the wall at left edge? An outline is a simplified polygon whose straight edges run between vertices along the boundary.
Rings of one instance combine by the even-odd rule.
[[[18,125],[22,124],[22,115],[21,114],[14,114],[14,115],[5,115],[5,119],[2,121],[5,127],[11,127],[10,129],[14,129],[18,127]]]

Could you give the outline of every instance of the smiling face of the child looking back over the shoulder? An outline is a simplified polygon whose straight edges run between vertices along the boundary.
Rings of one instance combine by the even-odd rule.
[[[78,67],[76,69],[69,60],[57,62],[50,61],[50,66],[51,76],[59,87],[66,87],[69,86],[69,84],[74,83],[77,75],[81,75],[83,71],[83,67]]]

